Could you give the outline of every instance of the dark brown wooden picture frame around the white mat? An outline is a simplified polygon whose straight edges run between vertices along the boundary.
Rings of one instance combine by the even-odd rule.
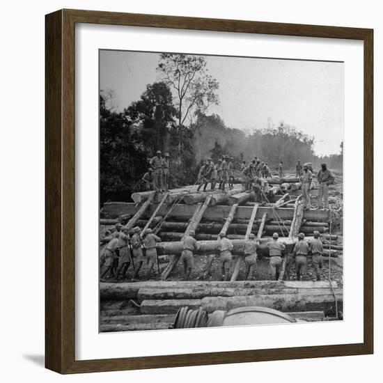
[[[364,342],[75,360],[75,23],[342,38],[364,42]],[[373,353],[373,30],[88,10],[45,17],[45,366],[58,373]]]

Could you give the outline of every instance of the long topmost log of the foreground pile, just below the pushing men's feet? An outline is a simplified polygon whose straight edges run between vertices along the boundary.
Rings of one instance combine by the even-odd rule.
[[[334,288],[338,288],[336,281],[332,282]],[[136,300],[141,288],[330,288],[329,281],[141,281],[141,282],[101,282],[101,302],[116,301],[116,309],[125,305],[128,299]],[[118,302],[120,301],[120,302]],[[110,304],[109,304],[110,306]],[[110,308],[110,307],[109,307]]]

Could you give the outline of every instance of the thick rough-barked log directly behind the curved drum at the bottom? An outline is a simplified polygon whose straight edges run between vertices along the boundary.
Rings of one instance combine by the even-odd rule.
[[[335,290],[338,304],[343,302],[343,290]],[[196,299],[199,301],[199,299]],[[148,301],[146,301],[148,302]],[[159,301],[153,301],[159,302]],[[166,302],[166,301],[162,301]],[[263,306],[274,308],[283,312],[289,311],[329,311],[335,308],[334,295],[308,295],[308,294],[283,294],[283,295],[251,295],[237,297],[205,297],[201,299],[203,310],[212,313],[216,310],[228,311],[233,308],[247,306]]]

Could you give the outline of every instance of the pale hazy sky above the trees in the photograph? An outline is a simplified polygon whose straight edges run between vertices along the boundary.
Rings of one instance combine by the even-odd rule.
[[[248,132],[267,120],[315,136],[315,153],[338,153],[344,129],[343,63],[205,56],[219,82],[216,113],[226,126]],[[100,51],[100,88],[112,89],[118,110],[159,80],[159,54]]]

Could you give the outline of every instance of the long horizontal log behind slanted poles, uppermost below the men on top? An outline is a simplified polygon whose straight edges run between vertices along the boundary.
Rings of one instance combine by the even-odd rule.
[[[155,211],[156,207],[157,206],[154,204],[150,205],[150,208],[143,215],[143,219],[149,219]],[[207,219],[209,221],[225,219],[230,212],[230,208],[231,207],[228,205],[209,206],[203,216],[203,219]],[[162,208],[159,209],[158,214],[164,217],[170,209],[170,205],[162,205]],[[138,208],[134,203],[104,203],[102,210],[104,214],[114,218],[118,217],[120,214],[130,214],[133,216],[136,214]],[[187,221],[190,219],[190,217],[192,217],[194,210],[194,205],[186,205],[180,203],[171,209],[169,219],[171,219],[171,217],[177,217],[177,219]],[[238,206],[236,217],[240,219],[250,219],[252,211],[253,206]],[[292,219],[294,213],[293,209],[288,208],[278,208],[275,209],[275,211],[281,219]],[[256,218],[260,219],[264,212],[269,212],[269,217],[272,217],[272,208],[260,206],[258,208]],[[308,221],[328,221],[329,210],[305,210],[304,219],[307,219]]]

